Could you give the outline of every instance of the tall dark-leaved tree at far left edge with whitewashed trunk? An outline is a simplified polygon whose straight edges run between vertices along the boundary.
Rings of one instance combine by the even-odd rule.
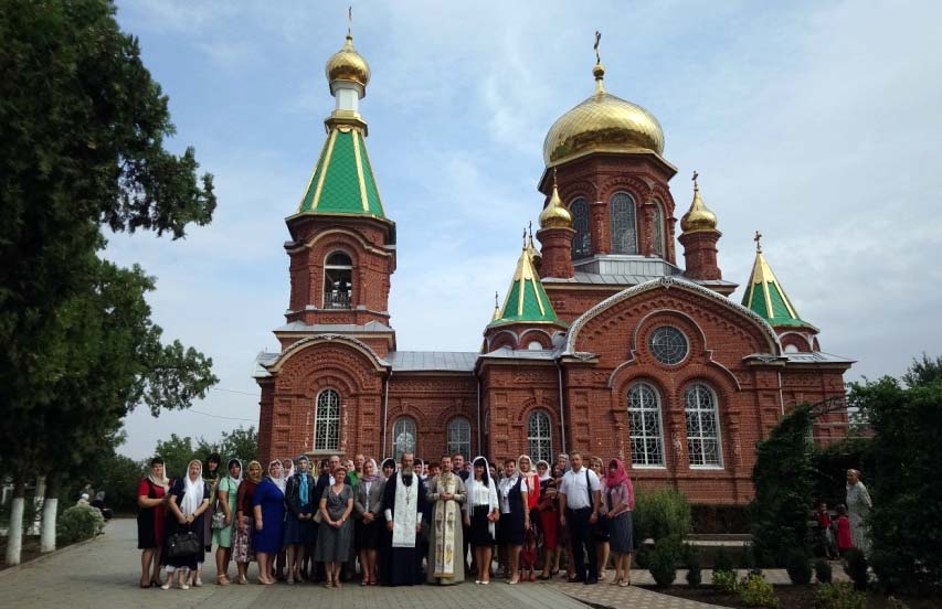
[[[108,279],[96,255],[105,245],[102,227],[179,238],[189,224],[211,221],[215,196],[212,177],[197,175],[192,149],[177,156],[165,148],[165,138],[174,132],[167,97],[145,68],[137,39],[118,28],[112,2],[0,0],[0,412],[6,417],[0,459],[11,463],[19,489],[13,511],[21,513],[28,467],[46,462],[46,438],[54,436],[50,426],[65,418],[60,409],[75,399],[63,392],[74,391],[82,377],[74,357],[85,348],[71,341],[91,335],[82,328],[92,314],[89,287]],[[166,356],[168,365],[141,374],[146,381],[130,392],[114,387],[112,404],[137,393],[159,412],[176,397],[199,395],[199,387],[178,392],[173,375],[165,384],[162,374],[183,360],[199,367],[198,354],[182,345],[158,348],[154,332],[137,335],[148,345],[150,362]],[[75,437],[116,425],[97,410],[86,410],[82,420],[94,417],[102,420],[89,423],[91,430],[76,427]],[[22,523],[15,521],[8,564],[19,563]]]

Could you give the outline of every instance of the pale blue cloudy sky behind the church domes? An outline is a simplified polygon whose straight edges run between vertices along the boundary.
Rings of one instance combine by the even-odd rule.
[[[106,257],[157,277],[165,338],[220,378],[188,412],[127,417],[121,451],[144,458],[171,432],[257,426],[254,360],[277,351],[288,303],[284,218],[324,143],[348,3],[117,6],[170,98],[168,147],[192,146],[219,196],[184,239],[109,235]],[[367,146],[398,227],[399,349],[479,348],[542,207],[546,132],[593,90],[600,30],[607,90],[664,128],[678,218],[700,173],[723,278],[748,281],[761,231],[822,349],[858,361],[847,381],[942,353],[940,21],[932,1],[354,2]]]

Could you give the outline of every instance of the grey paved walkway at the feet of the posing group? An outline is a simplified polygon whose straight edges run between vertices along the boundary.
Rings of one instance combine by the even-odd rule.
[[[133,607],[135,609],[225,607],[296,609],[299,606],[327,609],[588,609],[591,603],[633,609],[696,609],[709,607],[643,588],[618,588],[601,584],[521,584],[490,586],[465,584],[455,588],[361,588],[347,585],[340,590],[319,586],[215,586],[215,569],[207,565],[202,588],[190,590],[141,590],[137,587],[140,552],[133,520],[112,521],[102,537],[67,547],[36,563],[0,571],[3,607]],[[252,568],[254,573],[254,567]],[[636,574],[646,571],[635,571]],[[682,580],[678,578],[679,580]]]

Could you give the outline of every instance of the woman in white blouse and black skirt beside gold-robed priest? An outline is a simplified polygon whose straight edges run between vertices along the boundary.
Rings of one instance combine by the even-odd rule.
[[[475,584],[490,583],[490,554],[494,549],[495,525],[500,517],[497,502],[497,481],[488,473],[487,459],[474,460],[474,473],[468,477],[467,501],[465,502],[465,526],[470,528],[470,545],[474,548],[475,564],[478,565],[478,579]]]

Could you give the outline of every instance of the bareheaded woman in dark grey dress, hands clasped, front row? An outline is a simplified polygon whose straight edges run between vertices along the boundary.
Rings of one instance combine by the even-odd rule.
[[[327,580],[325,588],[340,587],[340,568],[350,559],[353,528],[350,512],[353,511],[353,491],[345,481],[347,468],[334,468],[334,484],[324,489],[320,498],[320,528],[314,559],[324,563]]]

